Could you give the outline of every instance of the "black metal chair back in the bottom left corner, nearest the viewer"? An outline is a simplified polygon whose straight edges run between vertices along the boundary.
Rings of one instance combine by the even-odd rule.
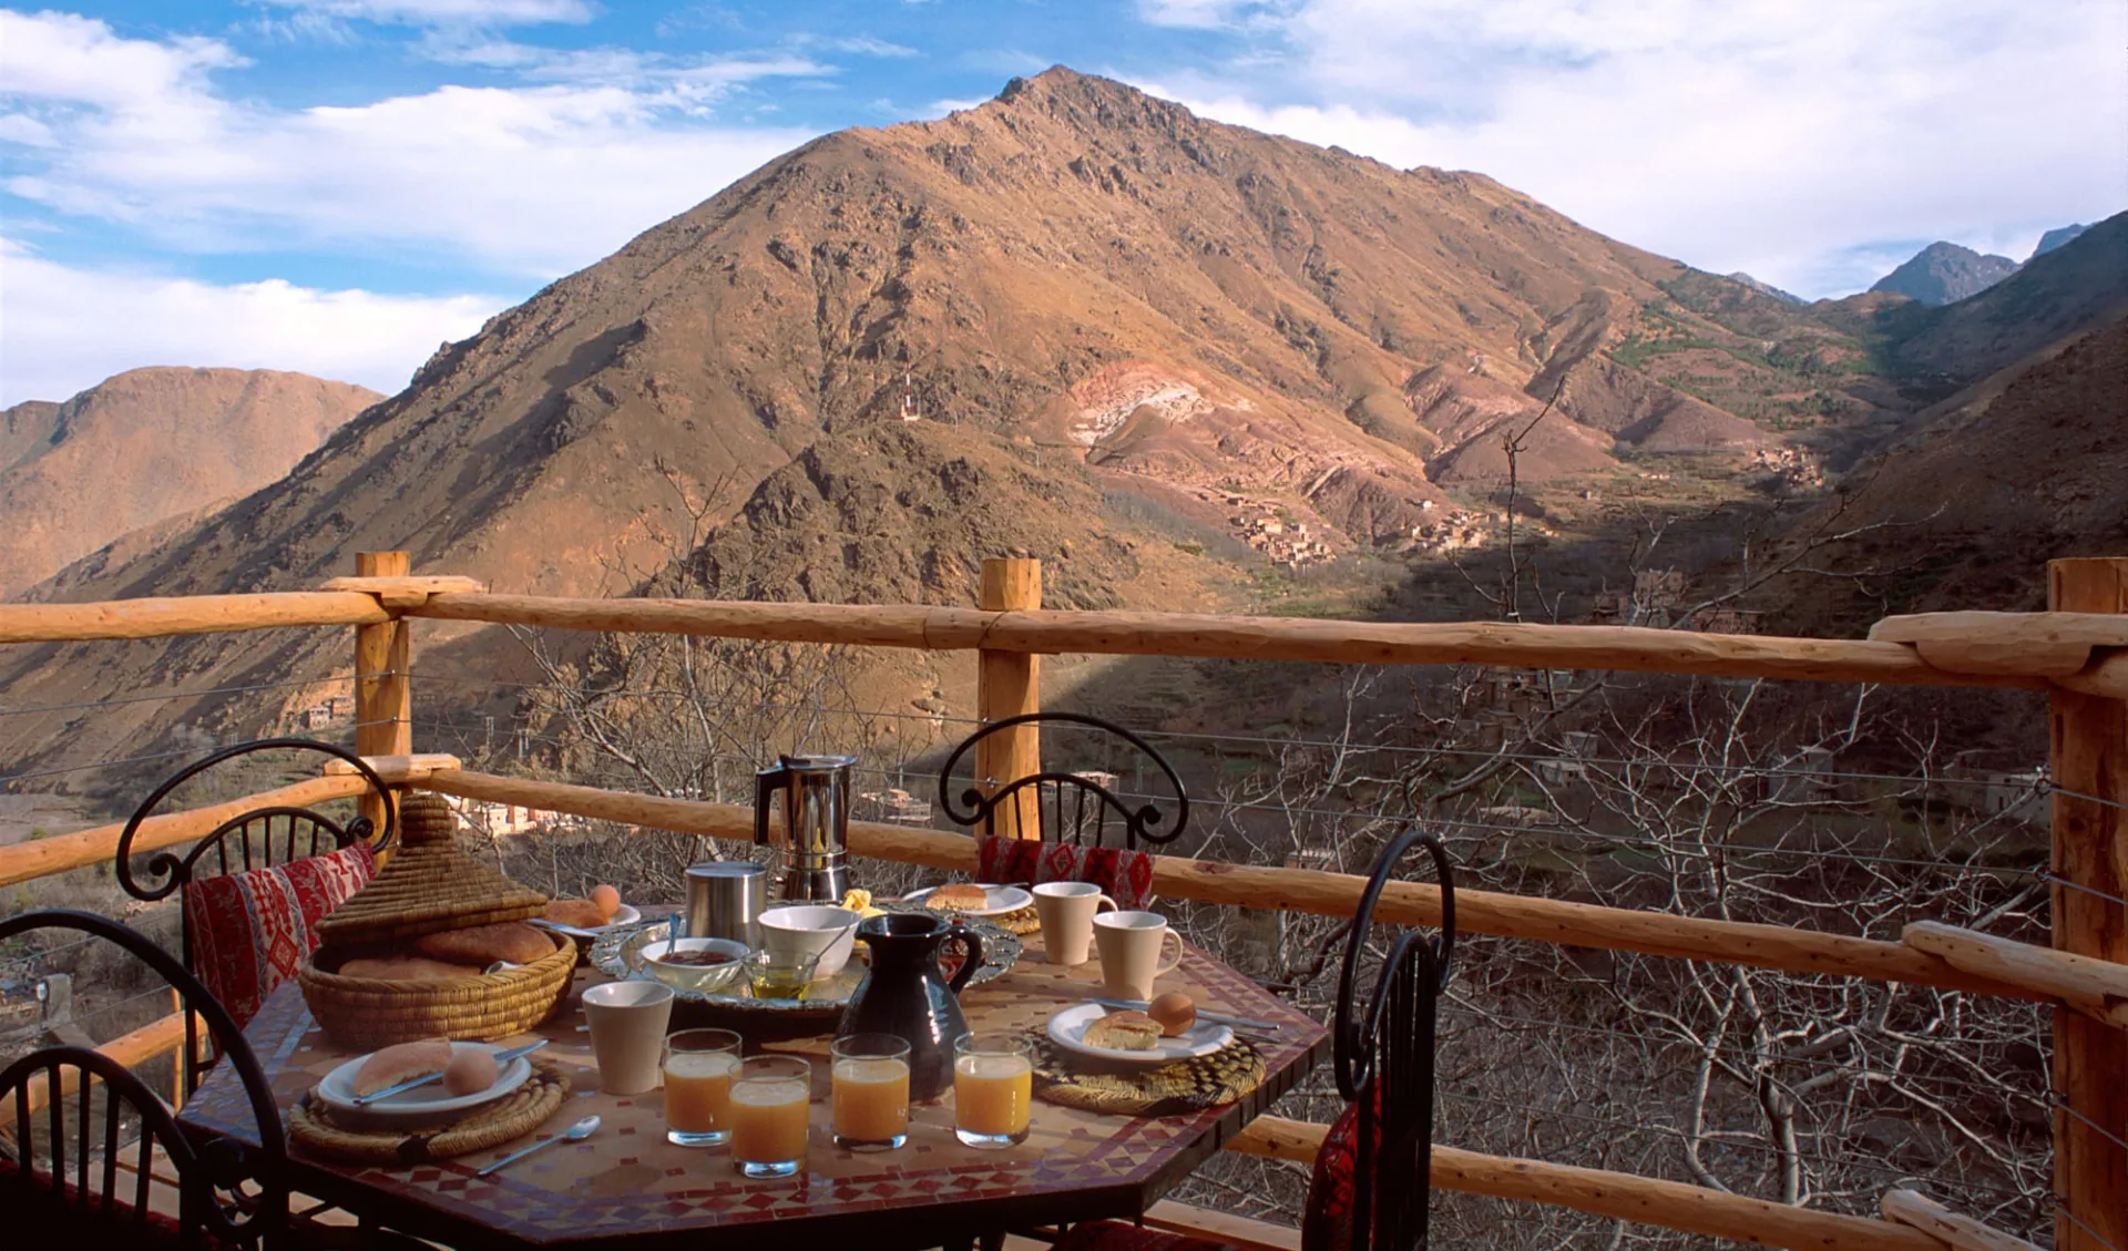
[[[162,1149],[179,1179],[181,1242],[215,1238],[257,1247],[281,1230],[287,1219],[287,1138],[266,1072],[228,1008],[177,957],[109,917],[70,908],[21,913],[0,921],[0,943],[34,930],[77,930],[104,938],[162,974],[177,991],[185,1017],[185,1051],[179,1060],[185,1077],[194,1077],[198,1028],[204,1023],[245,1085],[260,1147],[226,1140],[196,1145],[177,1125],[168,1104],[123,1064],[87,1047],[43,1047],[0,1070],[0,1106],[15,1113],[15,1166],[0,1177],[0,1194],[9,1196],[0,1202],[4,1219],[21,1219],[47,1234],[40,1245],[55,1245],[53,1236],[62,1232],[94,1234],[87,1245],[147,1242],[153,1232],[155,1149]],[[45,1106],[32,1111],[36,1087],[43,1087]],[[128,1125],[138,1130],[130,1168],[123,1138]],[[47,1162],[43,1172],[38,1157]],[[132,1177],[121,1181],[121,1168]]]

